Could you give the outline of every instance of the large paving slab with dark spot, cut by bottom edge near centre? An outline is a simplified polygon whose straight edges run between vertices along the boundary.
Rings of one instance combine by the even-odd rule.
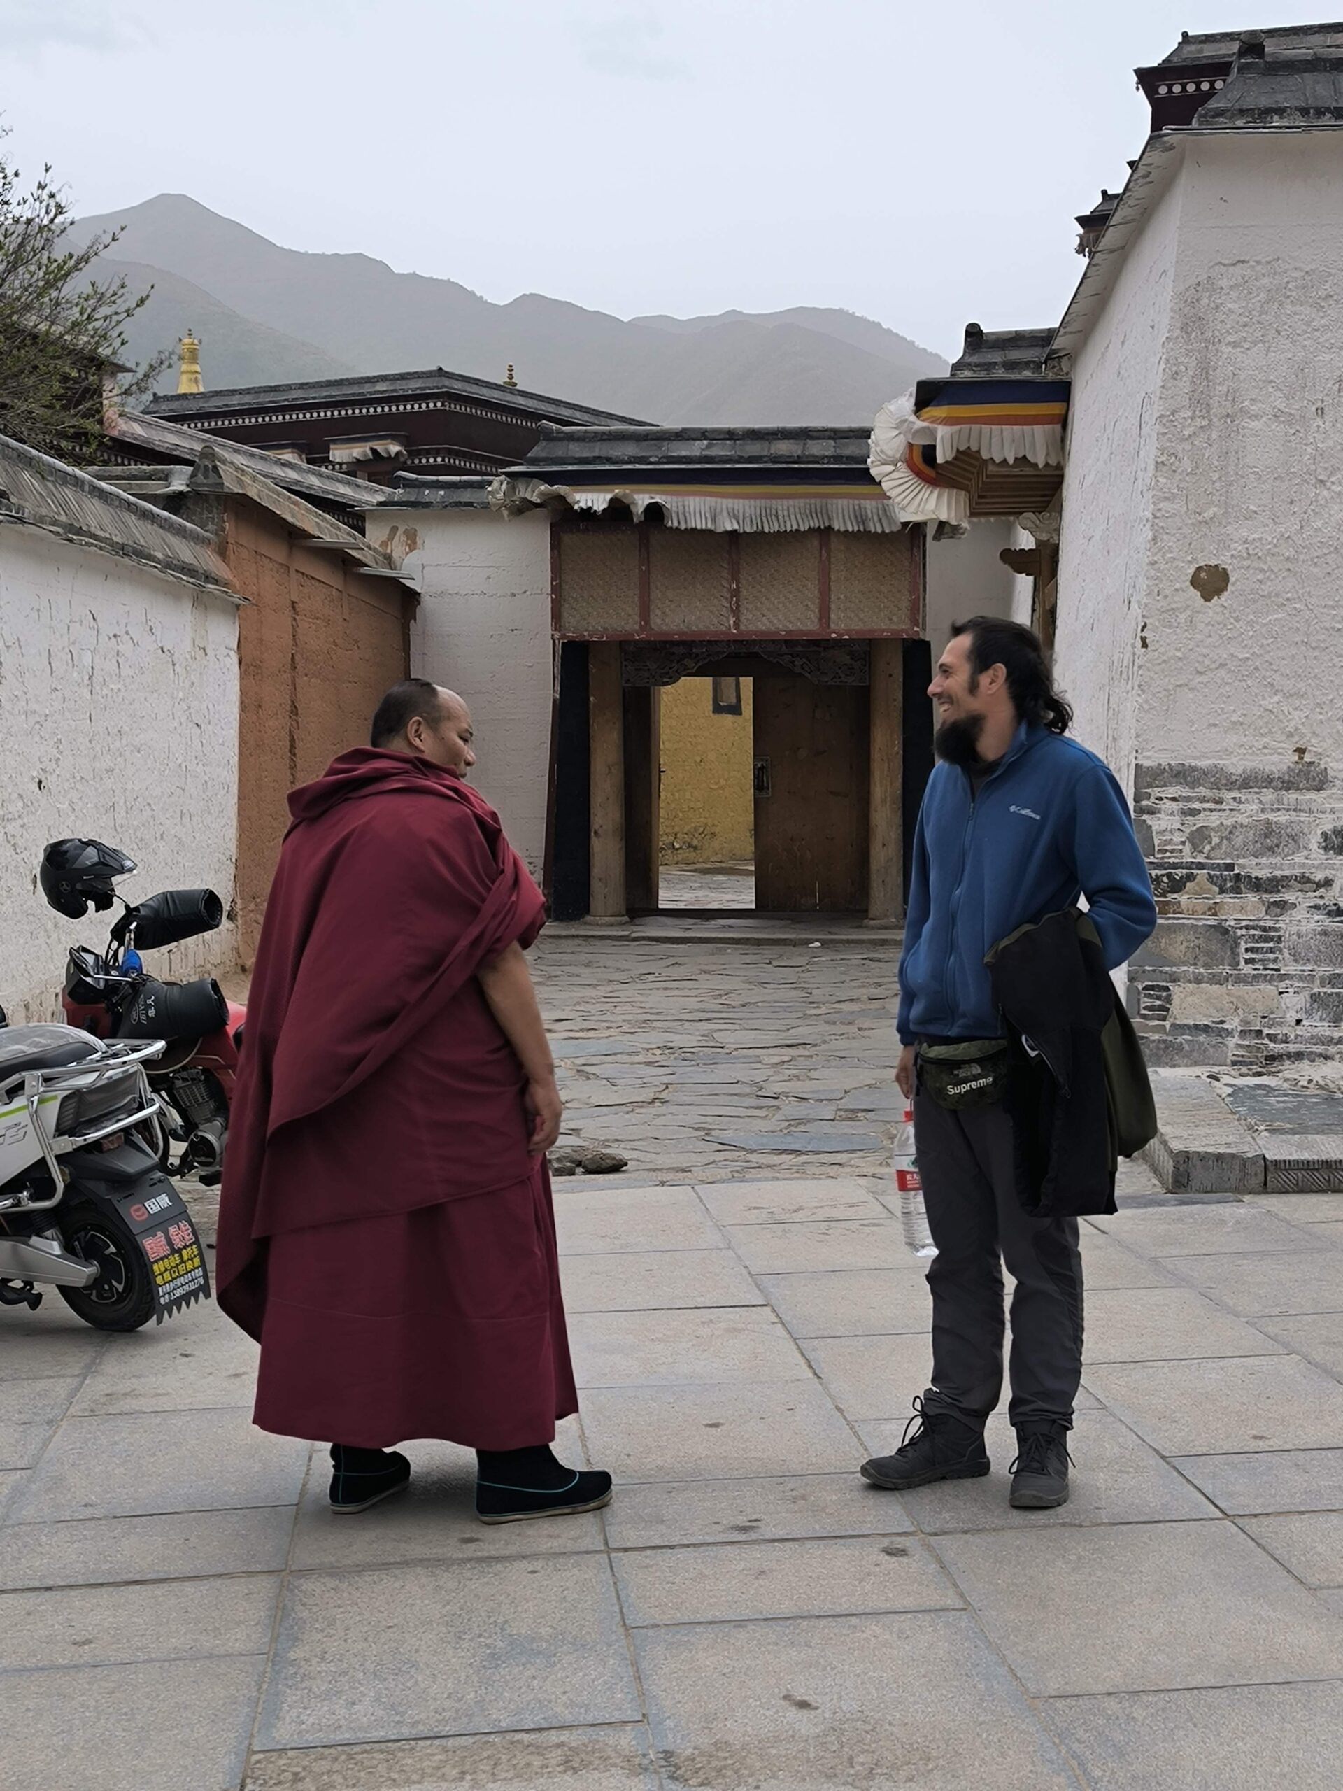
[[[668,1784],[856,1791],[1076,1786],[1012,1675],[962,1612],[637,1630]]]

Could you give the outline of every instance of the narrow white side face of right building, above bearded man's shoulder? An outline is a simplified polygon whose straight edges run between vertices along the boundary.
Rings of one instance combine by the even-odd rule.
[[[1137,750],[1137,673],[1151,589],[1151,501],[1180,197],[1178,183],[1169,186],[1128,245],[1108,301],[1073,364],[1055,675],[1076,711],[1076,736],[1107,759],[1126,788]]]

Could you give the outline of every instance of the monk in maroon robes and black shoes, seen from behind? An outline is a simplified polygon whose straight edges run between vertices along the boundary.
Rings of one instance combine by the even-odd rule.
[[[390,1451],[476,1451],[476,1515],[591,1512],[546,1150],[560,1098],[525,949],[543,897],[466,783],[471,716],[410,679],[372,745],[290,795],[256,953],[218,1221],[218,1304],[261,1345],[254,1422],[331,1444],[331,1506]]]

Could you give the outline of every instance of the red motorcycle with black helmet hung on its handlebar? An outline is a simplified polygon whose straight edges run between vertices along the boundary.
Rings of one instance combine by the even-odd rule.
[[[224,904],[213,890],[163,890],[127,903],[113,881],[134,869],[133,858],[98,840],[56,840],[47,847],[39,876],[57,913],[82,919],[90,904],[124,906],[106,951],[70,951],[61,1007],[72,1026],[98,1039],[165,1041],[147,1071],[161,1107],[161,1166],[213,1186],[224,1171],[247,1010],[227,1001],[213,976],[159,981],[145,971],[141,951],[211,933],[224,919]]]

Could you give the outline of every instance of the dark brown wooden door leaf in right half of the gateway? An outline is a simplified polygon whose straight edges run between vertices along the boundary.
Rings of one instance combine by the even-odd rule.
[[[756,906],[867,912],[867,686],[756,679]]]

